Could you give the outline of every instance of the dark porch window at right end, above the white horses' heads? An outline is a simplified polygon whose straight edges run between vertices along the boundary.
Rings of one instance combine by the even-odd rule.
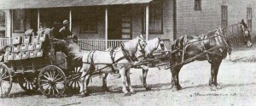
[[[163,4],[161,0],[149,3],[149,33],[163,33]],[[146,9],[143,9],[143,33],[146,31]]]

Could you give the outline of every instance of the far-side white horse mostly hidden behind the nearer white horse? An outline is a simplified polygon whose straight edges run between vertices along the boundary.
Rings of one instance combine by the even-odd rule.
[[[110,51],[111,48],[108,48],[106,51]],[[160,37],[155,37],[154,39],[151,39],[147,42],[147,45],[144,49],[141,49],[143,51],[137,51],[136,55],[139,58],[139,61],[143,61],[147,58],[154,58],[154,51],[166,51],[165,43],[160,39]],[[148,64],[139,65],[138,68],[143,69],[143,86],[146,88],[146,90],[150,90],[150,88],[147,86],[146,77],[148,74]],[[108,86],[107,86],[107,76],[108,73],[106,73],[102,77],[102,88],[108,92]]]

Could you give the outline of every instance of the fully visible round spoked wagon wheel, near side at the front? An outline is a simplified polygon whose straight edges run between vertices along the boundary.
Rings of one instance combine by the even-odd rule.
[[[44,67],[38,76],[40,91],[47,97],[60,97],[67,84],[64,72],[55,65]]]

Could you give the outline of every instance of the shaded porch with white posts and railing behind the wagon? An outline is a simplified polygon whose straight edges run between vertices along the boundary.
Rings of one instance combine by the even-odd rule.
[[[0,3],[5,5],[0,9],[6,11],[5,37],[10,38],[0,38],[0,47],[10,44],[12,38],[22,36],[28,29],[40,31],[44,26],[60,25],[63,20],[69,20],[70,31],[79,35],[83,50],[119,47],[121,42],[141,34],[146,40],[160,36],[166,45],[174,38],[173,7],[169,0],[63,0],[59,3],[21,0],[18,3],[27,4],[13,5],[9,0]]]

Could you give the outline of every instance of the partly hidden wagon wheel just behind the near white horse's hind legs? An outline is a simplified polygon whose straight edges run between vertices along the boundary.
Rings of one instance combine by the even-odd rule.
[[[68,81],[68,86],[72,89],[77,89],[79,88],[79,78],[82,75],[82,67],[75,67],[73,71],[71,71],[69,75],[69,81]]]

